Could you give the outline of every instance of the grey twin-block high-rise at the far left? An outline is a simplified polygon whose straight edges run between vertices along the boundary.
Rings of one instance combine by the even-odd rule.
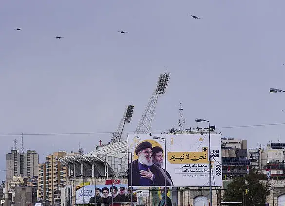
[[[20,153],[19,150],[11,150],[6,154],[6,178],[8,183],[13,176],[33,178],[38,176],[38,154],[35,150],[27,150]]]

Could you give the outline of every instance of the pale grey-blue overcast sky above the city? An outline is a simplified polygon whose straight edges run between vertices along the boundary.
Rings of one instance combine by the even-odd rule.
[[[284,7],[284,0],[2,0],[0,134],[112,132],[128,104],[135,107],[125,131],[133,133],[165,72],[170,84],[152,130],[178,128],[180,101],[185,128],[207,127],[195,118],[216,127],[284,123],[285,94],[269,93],[285,89]],[[247,148],[285,142],[285,125],[217,130],[247,139]],[[0,170],[14,139],[21,148],[20,135],[0,136]],[[100,139],[111,133],[25,135],[24,149],[43,162],[79,142],[92,151]]]

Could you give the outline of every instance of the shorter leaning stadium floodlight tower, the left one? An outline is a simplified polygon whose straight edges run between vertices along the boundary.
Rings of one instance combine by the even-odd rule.
[[[128,105],[128,107],[125,109],[123,118],[121,119],[117,127],[117,130],[112,134],[113,135],[112,140],[111,140],[112,143],[121,141],[125,124],[131,122],[131,118],[133,115],[133,108],[134,108],[133,105]]]

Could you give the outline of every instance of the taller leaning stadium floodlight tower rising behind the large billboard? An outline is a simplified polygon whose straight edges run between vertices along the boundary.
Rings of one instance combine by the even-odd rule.
[[[154,116],[158,96],[165,94],[165,90],[169,82],[169,77],[170,77],[169,73],[164,73],[159,75],[156,88],[153,91],[148,106],[146,107],[134,134],[147,134],[151,130],[152,119]]]

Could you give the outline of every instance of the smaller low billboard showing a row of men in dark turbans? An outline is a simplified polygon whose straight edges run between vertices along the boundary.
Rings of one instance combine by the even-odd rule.
[[[115,192],[113,192],[114,189]],[[113,202],[131,202],[131,190],[127,184],[80,185],[76,186],[76,204],[83,204],[83,200],[84,204],[112,203],[112,194],[114,195]],[[136,194],[133,194],[133,202],[136,201]]]

